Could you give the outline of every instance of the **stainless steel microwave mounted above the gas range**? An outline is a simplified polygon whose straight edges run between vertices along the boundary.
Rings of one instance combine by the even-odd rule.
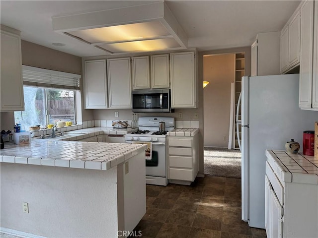
[[[133,112],[171,113],[170,89],[137,90],[132,92]]]

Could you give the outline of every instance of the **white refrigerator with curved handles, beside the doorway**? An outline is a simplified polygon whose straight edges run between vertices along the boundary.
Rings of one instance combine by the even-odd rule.
[[[242,77],[241,203],[250,227],[265,228],[265,150],[285,150],[295,139],[302,151],[303,131],[318,120],[318,112],[298,107],[298,90],[299,74]]]

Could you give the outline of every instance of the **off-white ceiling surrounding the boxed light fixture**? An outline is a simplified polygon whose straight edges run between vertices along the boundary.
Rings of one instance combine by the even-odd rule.
[[[0,23],[21,31],[22,40],[79,57],[104,51],[53,31],[52,17],[127,6],[143,0],[1,0]],[[250,46],[257,33],[281,31],[300,1],[295,0],[166,0],[188,37],[188,48],[199,51]],[[63,43],[65,46],[53,46]]]

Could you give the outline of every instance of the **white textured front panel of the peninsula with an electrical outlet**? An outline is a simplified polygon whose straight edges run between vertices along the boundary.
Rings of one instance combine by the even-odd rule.
[[[44,237],[117,237],[116,168],[1,163],[0,172],[1,227]]]

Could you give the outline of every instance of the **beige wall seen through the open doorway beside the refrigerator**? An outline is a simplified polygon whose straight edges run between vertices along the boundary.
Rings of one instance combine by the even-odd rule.
[[[204,146],[228,147],[231,82],[235,80],[235,54],[203,58]],[[225,137],[225,139],[224,139]]]

